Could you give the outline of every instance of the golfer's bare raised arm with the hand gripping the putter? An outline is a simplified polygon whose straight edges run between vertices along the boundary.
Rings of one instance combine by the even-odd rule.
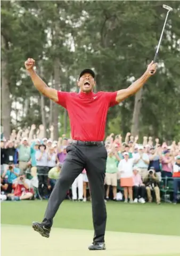
[[[156,69],[157,69],[157,64],[153,63],[153,61],[152,61],[148,65],[148,68],[145,71],[145,73],[139,79],[137,79],[127,89],[122,89],[117,92],[116,101],[121,102],[122,100],[128,98],[130,95],[133,95],[137,91],[139,91],[141,89],[141,87],[145,84],[145,82],[149,79],[149,77],[156,73]]]

